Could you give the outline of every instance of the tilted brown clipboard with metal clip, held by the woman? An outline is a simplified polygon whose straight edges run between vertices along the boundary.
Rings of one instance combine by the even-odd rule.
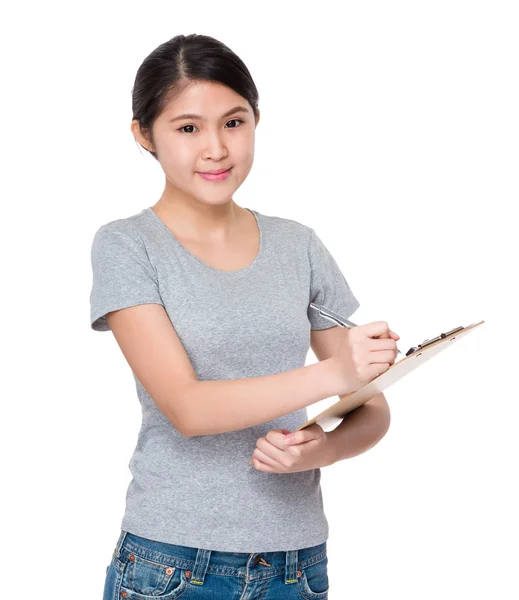
[[[346,394],[338,402],[328,407],[294,431],[300,431],[301,429],[310,427],[310,425],[313,425],[314,423],[319,424],[323,429],[328,427],[335,429],[334,426],[339,425],[348,413],[359,408],[359,406],[362,406],[368,400],[371,400],[371,398],[386,390],[389,386],[405,377],[408,373],[418,369],[418,367],[430,360],[433,356],[436,356],[449,346],[452,346],[452,344],[468,335],[471,331],[474,331],[474,329],[484,322],[485,321],[479,321],[479,323],[473,323],[467,327],[456,327],[447,333],[441,333],[431,340],[425,340],[418,346],[410,348],[406,352],[405,358],[394,362],[387,371],[377,375],[377,377],[357,391]]]

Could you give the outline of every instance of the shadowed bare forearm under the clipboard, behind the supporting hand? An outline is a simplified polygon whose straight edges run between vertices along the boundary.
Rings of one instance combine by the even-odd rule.
[[[378,444],[389,429],[390,419],[389,409],[369,402],[348,413],[338,427],[326,434],[333,462],[353,458]]]

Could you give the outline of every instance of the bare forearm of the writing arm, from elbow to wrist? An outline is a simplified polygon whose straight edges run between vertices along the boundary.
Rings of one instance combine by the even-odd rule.
[[[291,371],[219,381],[195,381],[183,394],[187,437],[225,433],[265,423],[337,394],[331,360]]]

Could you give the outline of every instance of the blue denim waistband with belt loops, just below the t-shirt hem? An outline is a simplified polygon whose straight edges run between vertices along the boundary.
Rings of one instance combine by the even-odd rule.
[[[259,579],[283,571],[286,583],[294,583],[299,570],[326,557],[326,542],[287,551],[222,552],[157,542],[121,530],[114,556],[125,562],[132,554],[159,564],[188,569],[193,581],[199,583],[203,583],[206,573]]]

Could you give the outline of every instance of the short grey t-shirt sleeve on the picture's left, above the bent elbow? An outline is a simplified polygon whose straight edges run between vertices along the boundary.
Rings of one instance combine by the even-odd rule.
[[[90,326],[110,331],[106,313],[137,304],[162,304],[158,280],[136,232],[102,225],[91,249]]]

